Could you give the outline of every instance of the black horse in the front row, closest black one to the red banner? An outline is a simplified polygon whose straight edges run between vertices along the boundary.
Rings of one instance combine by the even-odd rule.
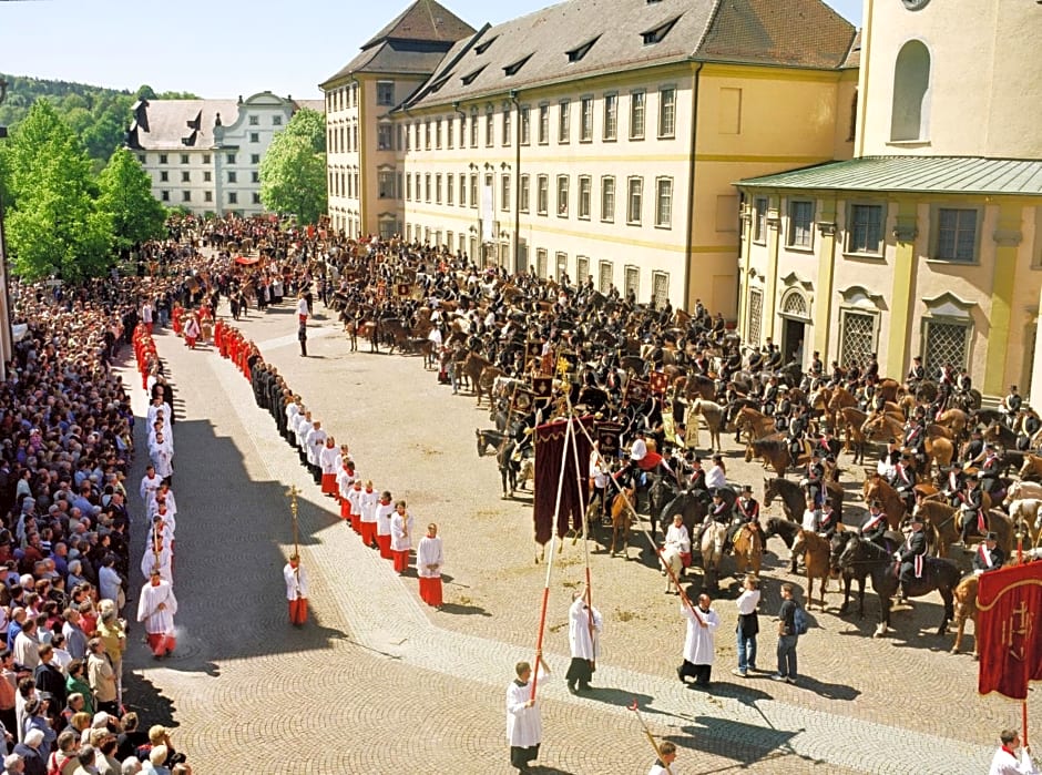
[[[838,564],[841,569],[861,565],[871,577],[872,589],[879,596],[879,624],[872,636],[885,635],[890,626],[890,605],[891,599],[897,593],[900,567],[886,549],[854,533],[847,539],[847,544],[839,554]],[[943,635],[948,630],[948,622],[954,615],[952,600],[961,574],[956,563],[950,560],[924,557],[922,565],[922,577],[913,578],[905,584],[903,591],[909,598],[921,598],[933,590],[940,593],[944,602],[944,615],[937,634]]]

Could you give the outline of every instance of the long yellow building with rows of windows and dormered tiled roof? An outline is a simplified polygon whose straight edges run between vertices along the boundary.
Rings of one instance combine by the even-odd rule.
[[[486,26],[388,114],[400,232],[733,318],[733,182],[852,153],[854,39],[818,0],[569,0]]]

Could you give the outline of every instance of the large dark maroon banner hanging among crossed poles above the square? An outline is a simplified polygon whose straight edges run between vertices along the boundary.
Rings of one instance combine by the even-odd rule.
[[[535,499],[534,521],[535,542],[540,544],[553,538],[563,538],[571,529],[581,531],[586,513],[586,497],[590,476],[590,442],[578,426],[565,447],[568,424],[582,424],[588,432],[593,426],[593,418],[571,418],[558,422],[546,422],[535,428]],[[575,449],[572,449],[574,439]],[[579,468],[575,468],[576,462]],[[558,502],[558,483],[561,482],[561,504],[554,513]]]

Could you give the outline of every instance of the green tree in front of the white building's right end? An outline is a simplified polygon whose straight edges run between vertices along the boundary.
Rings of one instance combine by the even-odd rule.
[[[298,111],[260,160],[260,202],[269,211],[316,223],[326,212],[326,118]]]

